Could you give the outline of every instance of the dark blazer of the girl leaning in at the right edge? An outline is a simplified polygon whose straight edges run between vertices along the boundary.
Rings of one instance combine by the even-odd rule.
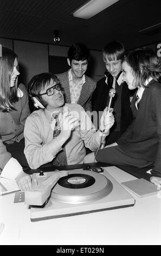
[[[138,111],[136,94],[131,102],[134,119],[117,143],[128,156],[154,162],[151,173],[161,176],[161,84],[149,82]]]

